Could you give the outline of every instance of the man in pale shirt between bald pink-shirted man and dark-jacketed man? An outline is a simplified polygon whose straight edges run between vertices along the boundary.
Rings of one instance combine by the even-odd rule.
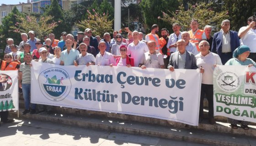
[[[145,52],[141,58],[140,68],[165,68],[163,55],[155,50],[155,45],[154,40],[148,41],[149,52]]]

